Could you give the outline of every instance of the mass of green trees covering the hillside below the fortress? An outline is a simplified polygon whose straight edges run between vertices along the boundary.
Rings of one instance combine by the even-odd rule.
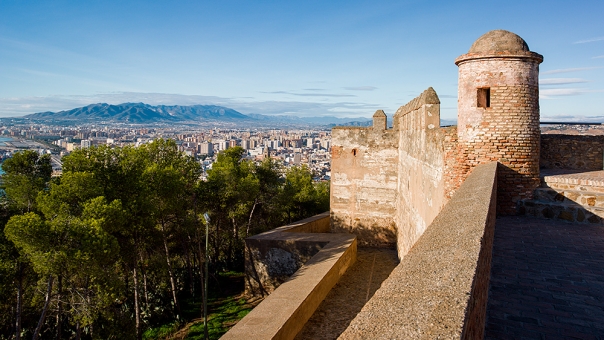
[[[328,183],[307,168],[243,154],[219,154],[207,181],[170,140],[78,150],[57,178],[48,155],[6,160],[0,339],[140,339],[185,324],[203,292],[203,213],[212,288],[243,270],[245,237],[329,209]]]

